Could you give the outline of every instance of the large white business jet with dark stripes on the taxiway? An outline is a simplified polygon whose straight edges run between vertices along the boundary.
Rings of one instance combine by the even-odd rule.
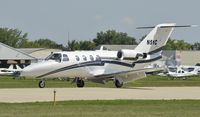
[[[42,79],[39,87],[45,87],[47,78],[69,77],[74,78],[77,87],[84,87],[84,80],[104,83],[113,80],[117,88],[123,83],[146,76],[144,68],[146,63],[160,59],[163,46],[165,46],[174,27],[174,23],[159,24],[134,49],[119,51],[63,51],[54,52],[45,61],[31,64],[20,72],[20,76]]]

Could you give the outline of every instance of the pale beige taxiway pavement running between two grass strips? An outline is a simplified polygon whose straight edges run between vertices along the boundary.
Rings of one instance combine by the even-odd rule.
[[[200,87],[134,87],[134,88],[16,88],[0,89],[0,102],[44,102],[65,100],[115,99],[200,99]]]

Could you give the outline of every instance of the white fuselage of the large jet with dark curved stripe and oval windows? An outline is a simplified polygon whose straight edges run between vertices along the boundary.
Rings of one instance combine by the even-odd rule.
[[[74,51],[56,52],[58,58],[50,55],[47,60],[31,64],[23,69],[21,76],[36,78],[81,77],[93,78],[133,69],[143,69],[144,64],[132,65],[117,59],[117,51]]]

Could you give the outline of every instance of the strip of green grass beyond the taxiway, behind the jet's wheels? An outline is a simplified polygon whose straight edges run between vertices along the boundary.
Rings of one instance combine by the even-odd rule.
[[[8,76],[0,77],[0,88],[37,88],[39,79],[13,79]],[[86,87],[115,87],[113,82],[107,82],[104,84],[85,82]],[[124,88],[129,87],[162,87],[162,86],[200,86],[200,76],[189,77],[186,80],[174,79],[169,80],[168,77],[162,76],[148,76],[146,78],[132,81],[124,84]],[[48,79],[46,81],[46,87],[76,87],[76,84],[72,84],[71,81]]]

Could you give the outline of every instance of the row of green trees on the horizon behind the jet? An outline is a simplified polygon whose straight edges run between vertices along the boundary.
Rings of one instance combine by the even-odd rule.
[[[143,36],[140,41],[143,40]],[[30,41],[28,33],[23,33],[19,29],[0,28],[0,42],[14,48],[54,48],[61,50],[93,50],[102,44],[118,44],[118,45],[136,45],[138,42],[134,37],[127,33],[117,32],[115,30],[107,30],[105,32],[97,32],[97,36],[92,41],[68,41],[66,45],[57,44],[48,38]],[[169,39],[165,50],[200,50],[200,43],[190,44],[184,40]]]

